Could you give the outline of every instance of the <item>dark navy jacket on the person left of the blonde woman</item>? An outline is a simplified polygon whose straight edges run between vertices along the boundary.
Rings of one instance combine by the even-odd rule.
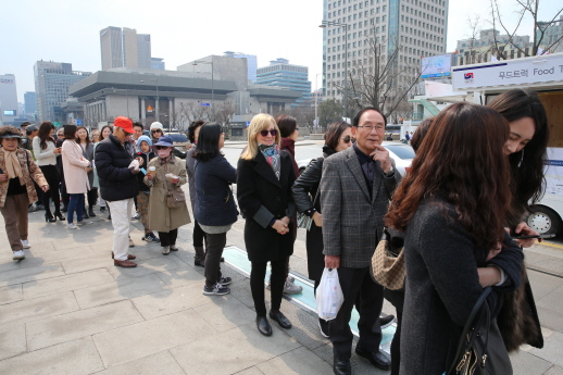
[[[199,224],[229,225],[237,221],[238,211],[230,184],[237,180],[237,170],[223,155],[208,161],[196,160],[196,204],[193,215]]]

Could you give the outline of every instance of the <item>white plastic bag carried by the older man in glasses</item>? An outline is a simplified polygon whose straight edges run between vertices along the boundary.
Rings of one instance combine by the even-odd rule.
[[[340,280],[338,279],[338,271],[325,267],[321,284],[316,288],[316,313],[318,317],[325,321],[331,321],[338,314],[340,307],[345,301]]]

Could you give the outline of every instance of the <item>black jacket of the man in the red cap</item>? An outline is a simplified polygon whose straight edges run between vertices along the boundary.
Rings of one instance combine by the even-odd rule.
[[[104,200],[124,200],[139,193],[137,176],[128,168],[133,157],[114,135],[110,135],[96,147],[95,160],[100,195]]]

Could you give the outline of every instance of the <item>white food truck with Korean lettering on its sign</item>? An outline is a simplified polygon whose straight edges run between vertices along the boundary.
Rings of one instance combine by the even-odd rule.
[[[426,99],[489,103],[514,88],[538,93],[548,114],[550,139],[546,165],[546,195],[528,217],[540,234],[563,234],[563,53],[453,66],[452,85],[426,85]],[[449,87],[445,88],[445,86]]]

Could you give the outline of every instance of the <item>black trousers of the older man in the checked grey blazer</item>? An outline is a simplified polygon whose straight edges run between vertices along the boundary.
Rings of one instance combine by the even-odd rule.
[[[358,345],[368,351],[379,351],[381,342],[379,314],[384,304],[384,287],[372,280],[370,267],[339,267],[338,278],[345,302],[336,318],[328,322],[335,359],[349,360],[352,357],[353,335],[348,323],[352,316],[354,304],[360,313],[360,322],[358,322],[360,341]]]

